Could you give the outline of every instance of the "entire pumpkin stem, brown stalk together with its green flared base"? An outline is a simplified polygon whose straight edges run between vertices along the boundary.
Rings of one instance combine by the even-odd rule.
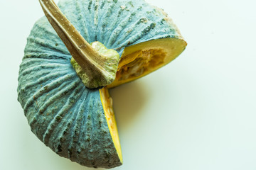
[[[85,86],[92,89],[111,84],[117,72],[118,53],[114,50],[107,50],[102,44],[92,47],[63,15],[53,0],[39,0],[39,2],[48,21],[68,48],[75,62],[82,68]],[[75,70],[77,72],[77,69]]]

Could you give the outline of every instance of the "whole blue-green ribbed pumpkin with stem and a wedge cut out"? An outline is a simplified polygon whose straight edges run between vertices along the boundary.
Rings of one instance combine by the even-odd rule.
[[[171,62],[186,42],[166,13],[145,1],[62,0],[58,6],[65,16],[60,18],[70,21],[73,30],[68,36],[63,33],[69,28],[58,31],[61,26],[50,16],[48,7],[58,7],[50,0],[40,2],[48,18],[33,26],[18,76],[18,101],[31,131],[61,157],[83,166],[119,166],[122,153],[108,89]],[[65,41],[73,35],[96,55],[111,56],[109,66],[102,62],[107,72],[103,83],[97,81],[101,59],[87,70],[80,65],[75,57],[83,48]],[[96,78],[90,79],[91,74]]]

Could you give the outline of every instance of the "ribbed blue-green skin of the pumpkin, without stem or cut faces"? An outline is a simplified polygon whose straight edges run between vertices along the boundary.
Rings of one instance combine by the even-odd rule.
[[[58,6],[87,42],[102,42],[120,56],[126,47],[129,51],[133,45],[159,39],[183,43],[175,57],[186,47],[166,13],[145,1],[63,0]],[[40,18],[28,36],[18,77],[18,101],[28,124],[61,157],[89,167],[119,166],[118,136],[113,140],[102,102],[107,89],[87,89],[71,57],[47,18]]]

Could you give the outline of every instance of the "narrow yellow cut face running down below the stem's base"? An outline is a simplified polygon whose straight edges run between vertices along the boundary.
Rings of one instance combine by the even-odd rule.
[[[114,118],[114,111],[112,108],[112,98],[110,97],[110,94],[108,92],[108,89],[102,88],[99,90],[100,91],[100,100],[102,101],[102,106],[103,110],[105,113],[105,117],[107,120],[107,126],[110,130],[110,135],[112,137],[114,147],[117,149],[117,154],[120,159],[120,162],[122,161],[122,150],[121,150],[121,145],[119,142],[119,136],[118,136],[118,131],[117,131],[117,123]]]

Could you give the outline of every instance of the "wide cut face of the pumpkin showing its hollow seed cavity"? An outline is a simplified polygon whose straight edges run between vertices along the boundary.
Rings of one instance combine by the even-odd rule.
[[[176,38],[151,40],[124,49],[116,78],[108,88],[133,81],[154,72],[183,52],[186,42]]]

